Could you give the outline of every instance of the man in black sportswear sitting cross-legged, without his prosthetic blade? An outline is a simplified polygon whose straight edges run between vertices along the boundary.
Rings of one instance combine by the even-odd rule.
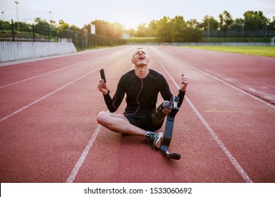
[[[97,89],[104,95],[109,111],[100,112],[97,115],[97,122],[113,132],[145,136],[152,141],[154,148],[159,148],[163,134],[158,130],[167,113],[171,111],[168,101],[173,94],[164,77],[148,68],[149,58],[144,49],[135,50],[132,63],[135,65],[134,70],[121,77],[113,98],[109,95],[110,91],[104,80],[99,81]],[[178,107],[183,102],[188,82],[188,77],[182,75]],[[164,98],[164,103],[156,108],[159,92]],[[114,113],[121,105],[125,94],[127,103],[125,112],[123,115]]]

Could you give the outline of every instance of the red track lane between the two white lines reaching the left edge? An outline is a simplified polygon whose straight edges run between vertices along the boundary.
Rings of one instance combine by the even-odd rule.
[[[116,56],[115,54],[116,53],[114,53],[114,56]],[[100,61],[100,58],[102,59],[102,61]],[[54,62],[59,62],[59,58],[54,58],[48,61],[51,62],[51,64],[55,65]],[[111,61],[111,58],[102,57],[102,55],[97,55],[94,57],[94,53],[92,53],[92,59],[86,57],[83,60],[81,54],[80,56],[78,56],[78,58],[75,58],[75,64],[72,64],[70,62],[68,66],[63,65],[63,68],[65,68],[66,70],[63,70],[63,68],[59,69],[59,66],[57,66],[57,71],[56,68],[51,68],[51,70],[53,70],[54,72],[43,72],[38,76],[35,75],[35,77],[32,77],[31,79],[27,78],[24,79],[25,81],[17,81],[18,83],[16,84],[13,82],[13,85],[0,89],[0,102],[5,103],[5,105],[2,106],[0,112],[1,121],[9,115],[16,113],[16,111],[20,111],[22,108],[25,108],[26,106],[32,104],[33,102],[43,99],[45,95],[52,94],[52,92],[55,92],[56,89],[63,88],[63,86],[71,83],[73,80],[78,78],[78,76],[85,75],[85,73],[87,72],[94,72],[95,70],[93,70],[93,68],[91,69],[91,67],[94,67],[96,65],[104,65],[104,63],[106,62],[111,63]],[[44,67],[44,64],[42,64],[41,68]],[[28,75],[31,75],[32,72],[34,72],[34,70],[31,69],[27,73],[30,73]],[[25,73],[20,73],[20,75],[25,76]],[[13,75],[11,77],[16,76]],[[2,80],[4,81],[4,79]]]

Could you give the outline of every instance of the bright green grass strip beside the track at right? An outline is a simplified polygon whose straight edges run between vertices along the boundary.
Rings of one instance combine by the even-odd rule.
[[[243,53],[254,56],[269,56],[275,58],[275,46],[184,46],[192,49],[205,49],[230,53]]]

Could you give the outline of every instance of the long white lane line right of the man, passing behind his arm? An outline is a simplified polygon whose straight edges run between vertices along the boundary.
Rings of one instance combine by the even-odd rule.
[[[175,84],[175,86],[178,89],[180,89],[180,87],[178,86],[178,84],[176,83],[176,81],[173,80],[173,77],[169,74],[168,70],[166,70],[166,68],[164,67],[164,65],[159,61],[159,59],[157,58],[157,56],[155,56],[155,54],[154,54],[154,57],[157,59],[157,61],[161,65],[161,67],[164,68],[165,72],[167,73],[167,75],[169,75],[169,77],[171,78],[171,80],[173,81],[173,83]],[[193,111],[195,112],[195,114],[197,115],[197,117],[200,118],[200,121],[202,121],[202,124],[204,125],[204,127],[207,128],[208,132],[212,135],[212,137],[214,138],[214,140],[216,141],[216,143],[224,151],[224,153],[229,158],[229,160],[231,161],[231,163],[233,164],[233,166],[239,172],[240,176],[243,177],[243,179],[245,180],[245,182],[252,183],[252,180],[250,179],[250,177],[248,177],[248,175],[246,174],[245,170],[243,170],[243,167],[240,166],[240,164],[238,163],[238,161],[228,151],[228,149],[226,148],[226,146],[224,146],[224,144],[221,142],[221,140],[219,139],[219,137],[215,134],[215,132],[213,131],[213,129],[208,125],[207,121],[204,120],[204,118],[202,117],[202,115],[200,114],[200,112],[197,110],[197,108],[195,108],[195,106],[190,101],[190,99],[188,98],[188,96],[185,95],[185,99],[188,102],[189,106],[193,109]]]

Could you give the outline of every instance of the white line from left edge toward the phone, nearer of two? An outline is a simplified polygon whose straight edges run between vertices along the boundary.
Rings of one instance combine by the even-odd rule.
[[[2,117],[0,119],[0,122],[8,119],[8,117],[11,117],[13,115],[16,115],[17,113],[20,113],[22,110],[25,110],[26,108],[34,105],[35,103],[38,103],[39,101],[42,101],[44,98],[47,98],[48,96],[51,96],[51,94],[54,94],[57,91],[60,91],[61,89],[65,88],[65,87],[68,87],[69,85],[73,84],[74,82],[77,82],[78,80],[81,80],[83,77],[86,77],[87,75],[90,75],[92,72],[95,72],[96,70],[99,70],[100,68],[103,68],[107,64],[109,64],[109,63],[105,63],[104,65],[102,65],[102,66],[100,66],[98,68],[95,68],[94,70],[91,70],[90,72],[87,72],[85,75],[82,75],[81,77],[78,77],[76,80],[73,80],[73,81],[69,82],[68,84],[63,85],[63,87],[60,87],[59,89],[56,89],[55,91],[51,91],[51,93],[49,93],[49,94],[47,94],[45,96],[42,96],[41,98],[37,99],[36,101],[33,101],[32,103],[28,104],[27,106],[24,106],[23,108],[20,108],[19,110],[14,111],[13,113],[7,115],[6,117]]]

